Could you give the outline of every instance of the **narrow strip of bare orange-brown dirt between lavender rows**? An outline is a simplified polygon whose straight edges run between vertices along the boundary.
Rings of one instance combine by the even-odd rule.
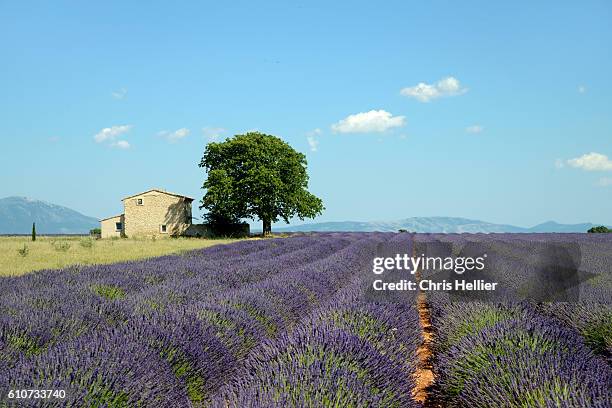
[[[412,256],[416,256],[416,248],[413,246]],[[417,282],[421,281],[421,270],[415,273]],[[417,295],[417,310],[419,312],[419,323],[423,343],[417,349],[417,369],[414,373],[415,387],[413,390],[414,399],[421,402],[424,406],[433,406],[429,395],[429,387],[435,381],[431,360],[433,356],[433,328],[431,326],[431,313],[427,304],[425,292],[419,291]]]

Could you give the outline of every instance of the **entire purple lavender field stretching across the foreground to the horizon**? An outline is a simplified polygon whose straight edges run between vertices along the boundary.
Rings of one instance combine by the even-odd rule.
[[[530,299],[534,248],[568,241],[569,297]],[[426,293],[423,361],[418,293],[372,296],[372,259],[468,244],[503,289]],[[322,233],[2,278],[0,407],[608,407],[611,266],[605,234]],[[66,398],[7,398],[23,389]]]

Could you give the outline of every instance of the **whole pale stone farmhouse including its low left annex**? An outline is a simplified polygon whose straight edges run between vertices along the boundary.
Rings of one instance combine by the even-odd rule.
[[[151,189],[125,197],[123,214],[100,220],[102,238],[185,235],[193,225],[193,198]]]

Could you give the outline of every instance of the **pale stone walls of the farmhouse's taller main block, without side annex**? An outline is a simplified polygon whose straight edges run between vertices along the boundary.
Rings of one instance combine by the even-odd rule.
[[[142,199],[142,205],[138,200]],[[123,200],[125,235],[181,235],[191,225],[191,200],[149,191]],[[162,231],[162,225],[166,231]]]

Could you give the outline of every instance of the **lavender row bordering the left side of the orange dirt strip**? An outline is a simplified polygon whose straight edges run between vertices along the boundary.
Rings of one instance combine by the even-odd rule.
[[[393,236],[371,256],[396,253],[412,253],[410,236]],[[373,296],[370,268],[361,268],[295,330],[254,350],[212,405],[419,406],[413,375],[423,339],[415,298]]]

